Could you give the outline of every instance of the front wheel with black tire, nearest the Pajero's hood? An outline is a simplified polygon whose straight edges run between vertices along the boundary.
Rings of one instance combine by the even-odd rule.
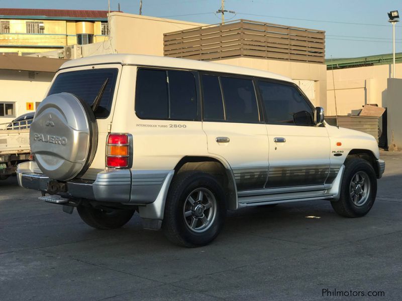
[[[356,174],[360,174],[360,178],[364,178],[365,176],[367,176],[369,180],[364,181],[365,185],[369,187],[369,190],[367,192],[368,196],[364,200],[364,202],[362,195],[356,195],[361,191],[361,189],[355,192],[355,188],[357,190],[357,186],[354,186],[352,184],[352,179],[356,179]],[[359,181],[353,183],[359,183]],[[335,212],[341,216],[360,217],[366,215],[370,211],[371,207],[373,207],[376,194],[377,178],[373,167],[366,160],[360,158],[351,158],[347,159],[347,161],[345,162],[345,172],[341,184],[340,199],[339,201],[331,202],[331,205],[332,208],[334,208]],[[362,197],[362,203],[356,205],[356,203],[358,203],[358,201],[356,201],[356,198],[357,200],[359,200],[360,197]]]

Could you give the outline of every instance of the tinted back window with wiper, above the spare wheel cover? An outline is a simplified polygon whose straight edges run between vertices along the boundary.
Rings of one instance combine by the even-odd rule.
[[[48,95],[67,92],[74,94],[88,105],[92,105],[106,79],[108,79],[102,98],[100,98],[99,105],[94,112],[96,118],[106,118],[111,111],[118,72],[117,68],[63,72],[54,80]]]

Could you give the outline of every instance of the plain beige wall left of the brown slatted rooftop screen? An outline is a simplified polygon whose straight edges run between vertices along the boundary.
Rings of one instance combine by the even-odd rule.
[[[205,24],[124,13],[110,15],[115,53],[163,56],[163,34]]]

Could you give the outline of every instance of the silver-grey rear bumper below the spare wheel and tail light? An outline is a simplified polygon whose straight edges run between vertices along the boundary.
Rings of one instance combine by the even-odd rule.
[[[42,174],[35,162],[25,162],[17,168],[18,184],[27,189],[69,199],[130,205],[154,203],[163,184],[170,184],[168,174],[169,171],[108,170],[98,172],[95,180],[57,182]]]

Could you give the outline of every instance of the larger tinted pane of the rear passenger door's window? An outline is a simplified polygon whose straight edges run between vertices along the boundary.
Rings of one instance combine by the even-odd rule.
[[[252,80],[221,77],[226,120],[258,122],[258,106]]]

